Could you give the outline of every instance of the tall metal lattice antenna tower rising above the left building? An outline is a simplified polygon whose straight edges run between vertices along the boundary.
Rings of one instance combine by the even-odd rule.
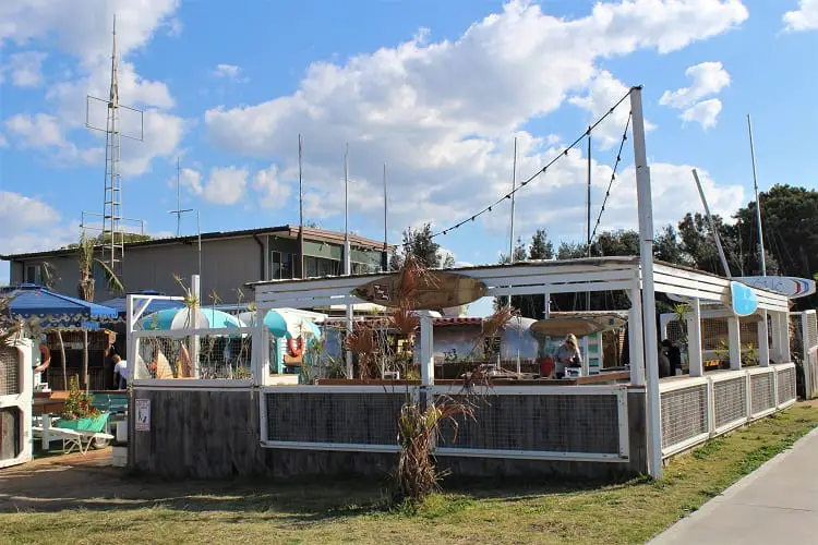
[[[105,206],[103,208],[103,237],[104,261],[113,270],[117,277],[122,278],[122,265],[124,261],[125,233],[122,227],[122,185],[120,179],[120,158],[122,153],[121,141],[125,138],[144,140],[143,112],[135,108],[119,104],[119,82],[117,78],[117,15],[113,15],[113,49],[111,52],[111,86],[108,99],[88,95],[85,101],[85,126],[95,131],[105,132]],[[91,123],[91,101],[105,102],[107,109],[107,121],[105,129],[94,126]],[[124,108],[140,116],[140,135],[129,136],[122,133],[119,123],[120,109]]]

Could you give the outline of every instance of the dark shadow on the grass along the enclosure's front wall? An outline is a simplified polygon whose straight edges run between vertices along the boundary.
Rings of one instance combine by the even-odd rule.
[[[630,481],[633,482],[633,480]],[[446,480],[447,498],[428,509],[445,513],[480,499],[524,501],[545,494],[567,494],[601,486],[627,486],[627,482],[565,482],[540,480],[483,481]],[[0,474],[0,512],[134,511],[168,509],[179,522],[182,513],[229,512],[231,522],[276,519],[290,524],[309,524],[337,518],[371,514],[406,514],[406,506],[390,501],[387,480],[299,479],[287,481],[165,481],[111,467],[48,464]],[[459,504],[458,504],[459,505]],[[195,517],[196,514],[192,514]],[[423,512],[421,512],[423,514]],[[152,514],[154,517],[155,514]]]

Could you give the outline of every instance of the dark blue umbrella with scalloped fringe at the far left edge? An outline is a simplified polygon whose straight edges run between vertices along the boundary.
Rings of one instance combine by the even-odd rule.
[[[12,318],[34,319],[43,328],[88,327],[88,320],[116,319],[115,308],[57,293],[41,286],[24,283],[2,288],[0,293],[12,298]]]

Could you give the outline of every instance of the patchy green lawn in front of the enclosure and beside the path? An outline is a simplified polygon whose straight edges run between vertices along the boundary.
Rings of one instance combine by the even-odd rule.
[[[448,487],[417,508],[388,507],[383,485],[357,481],[161,483],[85,470],[100,497],[55,488],[56,505],[19,500],[24,511],[0,514],[0,543],[641,543],[815,426],[818,408],[798,404],[676,458],[659,481]]]

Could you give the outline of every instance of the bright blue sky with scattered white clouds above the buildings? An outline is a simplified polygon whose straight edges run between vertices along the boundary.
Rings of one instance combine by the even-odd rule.
[[[123,216],[176,233],[177,203],[202,231],[297,225],[298,135],[306,221],[342,230],[442,231],[508,193],[514,141],[526,180],[643,86],[655,226],[753,198],[747,114],[760,190],[815,187],[818,0],[434,0],[0,3],[0,254],[79,239],[104,204],[111,29],[123,111]],[[629,102],[592,133],[591,215],[635,228]],[[517,193],[515,232],[584,240],[587,141]],[[98,226],[93,217],[86,222]],[[129,227],[137,229],[137,223]],[[441,235],[459,264],[507,252],[508,201]],[[196,230],[195,216],[182,233]],[[9,279],[0,263],[0,284]]]

